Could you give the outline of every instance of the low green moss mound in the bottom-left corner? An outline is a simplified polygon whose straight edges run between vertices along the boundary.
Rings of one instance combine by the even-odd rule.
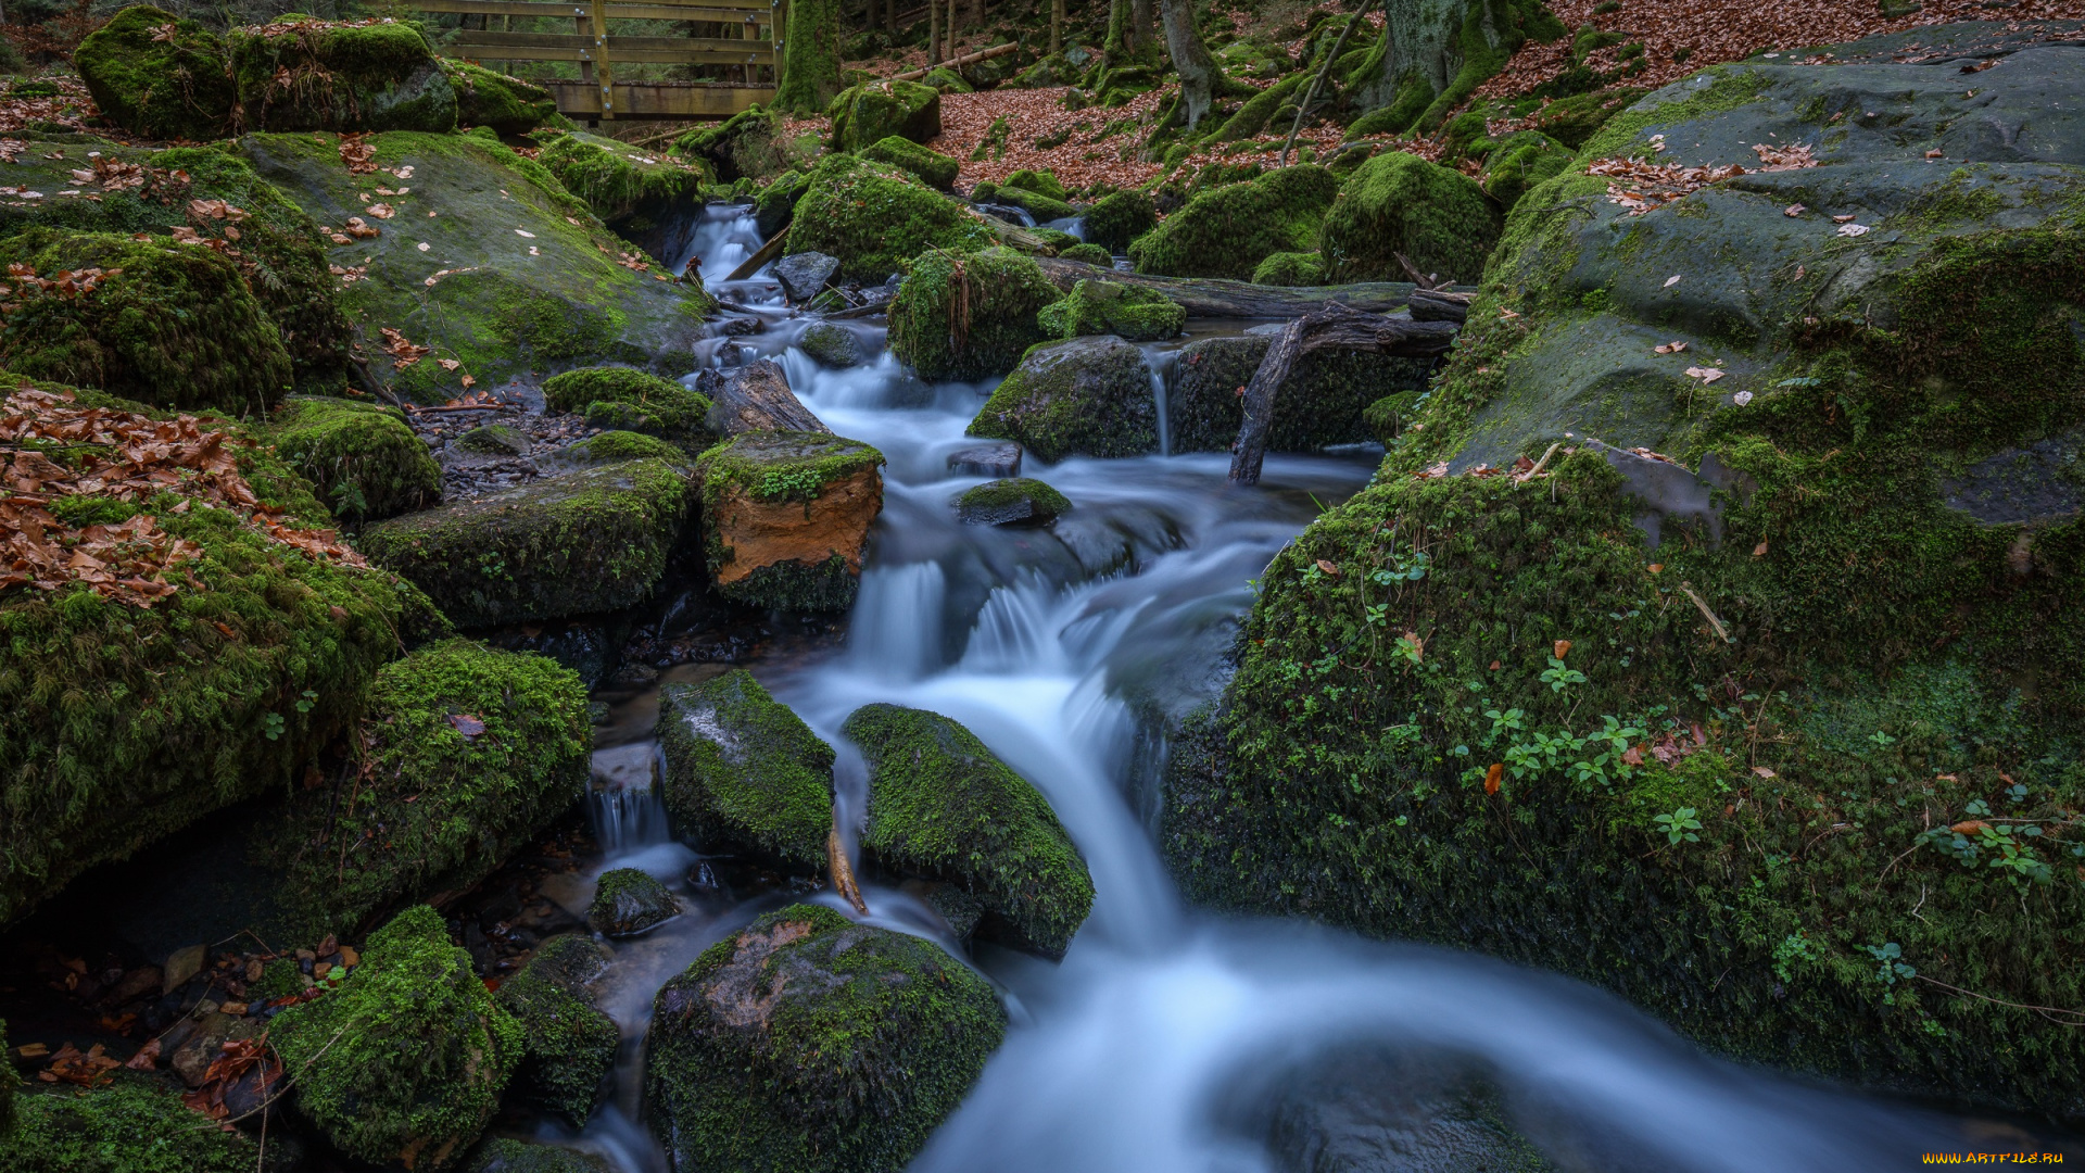
[[[13,1173],[250,1173],[261,1148],[206,1125],[181,1096],[144,1075],[94,1092],[15,1096],[15,1129],[0,1129]]]

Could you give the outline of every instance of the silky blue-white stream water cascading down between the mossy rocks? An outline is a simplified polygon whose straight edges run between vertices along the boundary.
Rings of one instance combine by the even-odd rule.
[[[1015,1029],[917,1171],[1299,1167],[1241,1104],[1278,1100],[1295,1073],[1353,1048],[1480,1075],[1560,1169],[1899,1169],[1964,1148],[1962,1121],[1706,1058],[1576,981],[1184,910],[1124,793],[1136,735],[1124,697],[1172,712],[1207,697],[1251,605],[1249,580],[1309,522],[1314,497],[1351,493],[1372,461],[1276,455],[1253,490],[1228,486],[1216,453],[1032,463],[1026,476],[1076,505],[1055,530],[963,526],[949,499],[982,478],[951,476],[945,457],[965,445],[984,388],[922,394],[888,355],[834,372],[788,340],[788,330],[749,338],[784,349],[792,386],[836,432],[890,457],[886,513],[847,653],[755,672],[842,747],[842,762],[838,728],[863,703],[963,722],[1051,801],[1097,891],[1063,964],[982,958]],[[1153,384],[1163,405],[1163,380]],[[857,808],[844,801],[853,787],[859,779],[842,779],[842,812]],[[899,893],[867,897],[874,923],[934,935],[932,914]],[[659,983],[751,914],[619,945],[609,1010],[626,1035],[642,1033]],[[659,1173],[663,1156],[632,1123],[636,1062],[632,1042],[617,1104],[578,1144],[626,1173]]]

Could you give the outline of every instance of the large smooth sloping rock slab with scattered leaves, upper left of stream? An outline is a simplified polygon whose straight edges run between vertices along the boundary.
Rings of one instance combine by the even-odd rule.
[[[371,173],[348,171],[336,136],[252,134],[236,150],[329,232],[340,307],[363,334],[369,374],[394,392],[442,403],[463,392],[463,376],[496,390],[594,363],[694,369],[715,303],[694,280],[623,267],[630,242],[542,163],[486,131],[365,144]],[[350,217],[375,236],[348,232]],[[430,351],[386,355],[384,330]]]

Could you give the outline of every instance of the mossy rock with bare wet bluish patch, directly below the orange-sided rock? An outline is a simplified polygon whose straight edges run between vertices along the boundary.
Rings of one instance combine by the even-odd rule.
[[[659,689],[665,810],[707,849],[751,847],[799,868],[826,862],[832,745],[753,672]]]

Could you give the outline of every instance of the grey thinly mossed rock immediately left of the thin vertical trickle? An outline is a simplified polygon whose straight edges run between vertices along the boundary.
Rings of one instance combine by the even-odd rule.
[[[1015,440],[1051,463],[1134,457],[1157,451],[1157,417],[1143,351],[1101,334],[1032,346],[965,434]]]

